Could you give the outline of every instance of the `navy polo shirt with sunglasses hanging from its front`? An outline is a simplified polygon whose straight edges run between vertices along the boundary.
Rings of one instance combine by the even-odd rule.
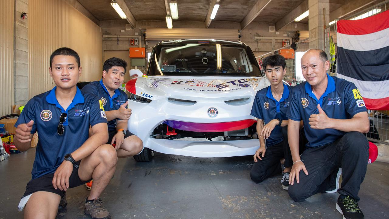
[[[99,99],[77,88],[73,101],[65,110],[58,103],[53,90],[36,95],[27,102],[15,124],[34,121],[31,134],[38,131],[39,140],[32,168],[32,178],[54,173],[63,162],[63,157],[81,147],[89,138],[89,125],[107,122]],[[58,134],[60,116],[67,113],[64,133]]]

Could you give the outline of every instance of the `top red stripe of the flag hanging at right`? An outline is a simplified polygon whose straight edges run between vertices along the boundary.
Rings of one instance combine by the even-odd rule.
[[[348,35],[371,34],[386,28],[389,28],[389,10],[359,20],[340,20],[336,23],[336,31]]]

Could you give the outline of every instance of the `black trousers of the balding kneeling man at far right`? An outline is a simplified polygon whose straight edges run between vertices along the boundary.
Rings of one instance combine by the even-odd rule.
[[[300,156],[308,175],[300,171],[300,182],[294,180],[288,193],[294,201],[328,191],[335,183],[338,168],[342,167],[342,184],[338,193],[359,200],[358,192],[366,174],[369,143],[360,132],[347,132],[328,145],[307,148]]]

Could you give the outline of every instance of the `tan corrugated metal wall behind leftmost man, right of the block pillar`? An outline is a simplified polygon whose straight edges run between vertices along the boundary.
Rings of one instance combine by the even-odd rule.
[[[49,75],[49,58],[60,47],[79,54],[79,81],[101,78],[103,41],[99,26],[63,0],[30,0],[28,19],[30,98],[55,86]]]

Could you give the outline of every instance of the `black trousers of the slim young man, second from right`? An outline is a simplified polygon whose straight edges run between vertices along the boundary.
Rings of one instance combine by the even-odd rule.
[[[277,175],[282,172],[280,159],[285,158],[284,166],[291,167],[293,165],[292,154],[288,143],[288,127],[282,127],[283,141],[276,145],[272,145],[266,148],[265,157],[262,160],[258,159],[258,162],[254,162],[254,165],[250,171],[251,180],[254,182],[262,182],[267,177]],[[304,131],[300,131],[300,154],[305,148],[305,136]]]

